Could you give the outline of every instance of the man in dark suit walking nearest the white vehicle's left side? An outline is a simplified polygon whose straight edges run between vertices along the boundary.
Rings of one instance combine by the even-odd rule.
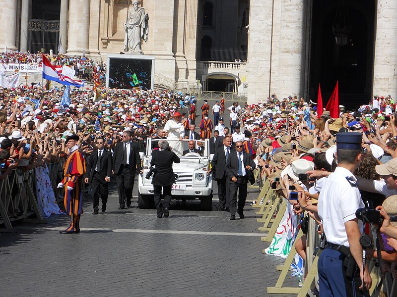
[[[136,143],[132,142],[131,131],[124,131],[122,142],[116,145],[113,154],[113,171],[116,174],[117,192],[119,193],[119,209],[131,206],[132,189],[136,169],[142,172],[139,150]]]

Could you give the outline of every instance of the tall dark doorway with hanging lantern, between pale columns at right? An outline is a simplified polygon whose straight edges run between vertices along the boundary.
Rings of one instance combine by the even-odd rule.
[[[372,93],[375,0],[344,0],[351,32],[345,46],[332,33],[339,0],[313,1],[310,56],[310,97],[319,83],[327,101],[339,81],[339,102],[347,107],[367,103]],[[326,102],[325,102],[326,103]]]

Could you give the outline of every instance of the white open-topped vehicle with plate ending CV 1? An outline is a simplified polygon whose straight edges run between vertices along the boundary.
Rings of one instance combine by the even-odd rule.
[[[152,140],[147,139],[146,152],[143,157],[143,174],[138,176],[138,207],[154,208],[153,185],[151,184],[153,175],[146,179],[149,172]],[[173,140],[167,139],[172,147]],[[183,140],[184,150],[188,149],[189,139]],[[195,140],[199,142],[199,140]],[[172,169],[175,174],[176,184],[172,185],[172,199],[200,199],[202,210],[211,210],[212,208],[212,173],[207,174],[210,168],[209,156],[209,139],[204,141],[204,153],[200,156],[196,152],[189,152],[184,156],[180,156],[181,162],[173,164]]]

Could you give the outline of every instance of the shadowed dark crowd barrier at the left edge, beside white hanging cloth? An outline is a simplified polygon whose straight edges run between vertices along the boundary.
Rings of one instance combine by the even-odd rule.
[[[35,170],[14,169],[0,182],[0,224],[3,232],[16,232],[11,222],[45,223],[40,214],[35,193]],[[35,219],[30,217],[35,215]]]

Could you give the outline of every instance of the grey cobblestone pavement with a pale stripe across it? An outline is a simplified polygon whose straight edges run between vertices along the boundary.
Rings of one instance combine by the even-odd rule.
[[[134,197],[136,197],[134,189]],[[214,190],[216,194],[216,186]],[[247,204],[258,191],[249,189]],[[61,235],[66,215],[17,224],[0,235],[0,296],[288,296],[268,295],[283,259],[262,254],[255,209],[244,220],[200,202],[175,201],[170,217],[132,206],[118,210],[111,186],[108,209],[92,215],[85,201],[81,233]],[[238,216],[237,216],[238,217]],[[289,277],[287,286],[296,286]]]

